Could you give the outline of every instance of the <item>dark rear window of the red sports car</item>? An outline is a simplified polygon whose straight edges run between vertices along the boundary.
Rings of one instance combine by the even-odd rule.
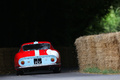
[[[48,43],[41,43],[41,44],[30,44],[30,45],[24,45],[23,50],[42,50],[42,49],[50,49],[50,44]]]

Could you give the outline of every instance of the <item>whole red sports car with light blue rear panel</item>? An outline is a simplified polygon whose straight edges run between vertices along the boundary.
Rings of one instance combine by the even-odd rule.
[[[61,71],[60,54],[50,42],[35,41],[25,43],[14,58],[17,75],[28,70],[48,69],[53,72]]]

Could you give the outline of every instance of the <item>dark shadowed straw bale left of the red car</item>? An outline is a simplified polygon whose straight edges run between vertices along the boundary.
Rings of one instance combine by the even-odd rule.
[[[14,56],[18,48],[0,48],[0,74],[14,73]]]

